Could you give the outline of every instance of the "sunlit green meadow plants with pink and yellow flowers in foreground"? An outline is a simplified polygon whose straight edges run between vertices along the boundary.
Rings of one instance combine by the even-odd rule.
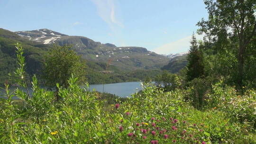
[[[107,104],[77,79],[55,94],[33,81],[33,97],[17,90],[26,108],[7,99],[0,104],[1,144],[255,144],[256,91],[238,96],[216,85],[211,107],[197,110],[189,90],[164,92],[153,85],[131,99]],[[8,91],[8,90],[7,90]],[[215,104],[212,99],[219,101]]]

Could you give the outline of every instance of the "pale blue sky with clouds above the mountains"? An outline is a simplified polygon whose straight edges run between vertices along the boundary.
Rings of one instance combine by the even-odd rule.
[[[158,54],[188,51],[207,16],[203,0],[0,0],[1,28],[48,28]]]

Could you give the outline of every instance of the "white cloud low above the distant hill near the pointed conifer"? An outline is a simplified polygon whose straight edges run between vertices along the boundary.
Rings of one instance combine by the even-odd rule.
[[[202,39],[202,35],[195,35],[197,40]],[[190,40],[192,36],[186,36],[178,39],[174,42],[161,45],[152,51],[157,54],[175,54],[181,52],[187,52],[190,46]]]

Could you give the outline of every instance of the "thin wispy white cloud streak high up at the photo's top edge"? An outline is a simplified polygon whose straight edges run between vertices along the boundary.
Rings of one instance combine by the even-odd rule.
[[[115,4],[113,0],[91,0],[98,10],[99,16],[110,26],[113,30],[115,27],[124,27],[124,25],[116,19]]]

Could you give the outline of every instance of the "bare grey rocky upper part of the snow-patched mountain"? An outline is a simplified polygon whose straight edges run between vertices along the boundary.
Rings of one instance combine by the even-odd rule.
[[[84,36],[68,36],[49,29],[17,31],[18,36],[44,45],[73,45],[82,58],[95,62],[110,62],[124,71],[159,69],[170,60],[168,57],[148,51],[143,47],[117,47],[101,44]]]

